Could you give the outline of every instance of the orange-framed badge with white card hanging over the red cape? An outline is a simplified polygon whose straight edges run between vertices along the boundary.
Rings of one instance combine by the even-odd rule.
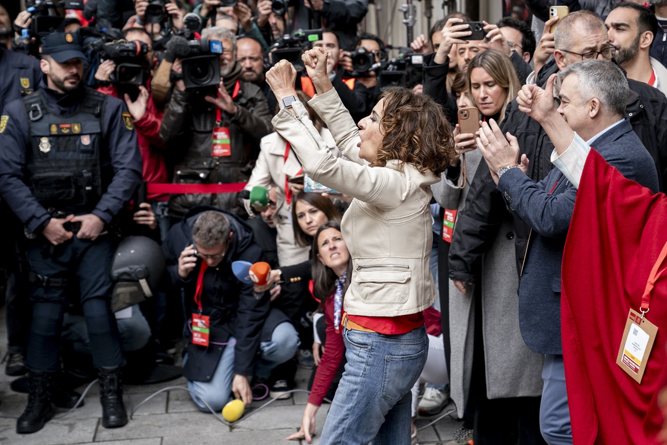
[[[642,383],[646,362],[651,355],[658,328],[646,316],[630,309],[616,364],[637,383]]]

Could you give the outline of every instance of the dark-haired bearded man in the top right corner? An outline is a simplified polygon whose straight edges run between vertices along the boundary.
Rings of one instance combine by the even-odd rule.
[[[614,58],[628,79],[648,83],[667,94],[667,68],[649,55],[658,33],[655,14],[636,3],[618,3],[604,24],[610,42],[616,47]]]

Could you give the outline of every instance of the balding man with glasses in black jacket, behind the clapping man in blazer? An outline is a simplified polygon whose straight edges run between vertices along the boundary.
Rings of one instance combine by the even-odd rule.
[[[588,58],[586,53],[594,51],[600,54],[598,58],[610,59],[613,53],[609,50],[611,45],[604,22],[590,11],[577,11],[562,19],[556,28],[555,44],[554,60],[544,65],[536,76],[540,86],[553,73],[582,60],[582,54]],[[667,180],[667,98],[646,83],[628,79],[628,85],[630,93],[625,117],[656,163],[659,187],[664,191]],[[554,86],[556,93],[559,89],[560,84]],[[504,133],[509,131],[517,137],[520,147],[530,159],[528,176],[533,181],[544,179],[552,170],[552,141],[540,123],[519,111],[516,100],[508,105],[505,113],[500,127]],[[465,282],[476,281],[476,265],[486,246],[494,239],[506,211],[488,169],[479,168],[468,192],[466,209],[457,215],[450,248],[450,278],[455,284],[458,282],[460,288],[464,288]],[[516,262],[520,272],[530,228],[518,217],[515,224]]]

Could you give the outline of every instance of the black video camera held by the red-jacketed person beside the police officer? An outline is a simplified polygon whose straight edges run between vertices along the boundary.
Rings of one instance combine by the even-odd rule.
[[[116,69],[109,75],[111,83],[124,85],[145,85],[148,81],[150,67],[145,55],[148,45],[140,41],[113,41],[101,45],[99,61],[112,60]]]

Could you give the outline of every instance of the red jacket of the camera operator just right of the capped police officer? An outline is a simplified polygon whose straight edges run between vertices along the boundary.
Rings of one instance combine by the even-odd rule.
[[[113,85],[97,87],[97,91],[113,97],[119,97],[118,91]],[[123,97],[119,97],[119,99],[125,101]],[[159,135],[163,113],[164,110],[157,109],[155,103],[153,103],[153,96],[149,95],[146,112],[141,119],[134,121],[134,126],[137,129],[137,143],[141,150],[141,159],[143,159],[143,180],[149,184],[169,182],[167,162],[162,153],[162,150],[166,146]],[[167,201],[169,195],[149,193],[147,199],[149,201]]]

